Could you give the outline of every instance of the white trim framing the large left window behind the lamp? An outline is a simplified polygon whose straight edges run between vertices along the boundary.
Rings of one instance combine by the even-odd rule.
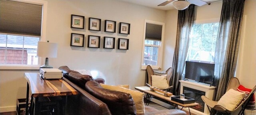
[[[41,27],[41,38],[40,41],[46,41],[46,19],[47,19],[47,1],[44,0],[12,0],[17,2],[24,2],[29,4],[38,4],[42,5],[42,27]],[[42,57],[38,57],[39,65],[10,65],[10,64],[1,64],[0,70],[38,70],[39,66],[44,63],[41,59]]]

